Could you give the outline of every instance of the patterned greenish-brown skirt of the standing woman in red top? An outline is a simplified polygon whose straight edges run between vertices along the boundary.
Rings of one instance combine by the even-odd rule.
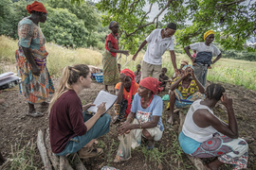
[[[117,58],[105,50],[102,54],[103,84],[115,85],[119,82],[119,67]]]

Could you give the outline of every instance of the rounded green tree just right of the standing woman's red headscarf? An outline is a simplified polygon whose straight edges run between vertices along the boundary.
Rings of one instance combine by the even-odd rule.
[[[63,8],[46,7],[48,18],[42,27],[47,42],[55,42],[64,46],[86,46],[88,31],[82,20]]]

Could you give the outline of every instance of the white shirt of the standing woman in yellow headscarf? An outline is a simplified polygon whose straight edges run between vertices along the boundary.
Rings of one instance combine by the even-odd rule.
[[[196,42],[190,44],[192,50],[196,50],[196,54],[199,52],[210,52],[212,56],[218,56],[221,54],[219,48],[210,43],[210,46],[206,45],[205,42]]]

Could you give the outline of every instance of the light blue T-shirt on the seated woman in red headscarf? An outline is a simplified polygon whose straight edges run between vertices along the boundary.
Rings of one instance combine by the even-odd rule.
[[[148,108],[143,109],[140,105],[141,97],[136,93],[134,96],[134,100],[132,103],[131,111],[136,113],[136,118],[139,123],[143,124],[146,122],[150,122],[153,120],[153,116],[159,116],[159,122],[157,127],[160,128],[161,131],[164,130],[162,124],[162,112],[163,112],[163,100],[161,97],[154,95],[153,99]]]

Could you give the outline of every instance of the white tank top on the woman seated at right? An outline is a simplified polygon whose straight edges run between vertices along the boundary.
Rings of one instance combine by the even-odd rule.
[[[202,128],[202,127],[198,127],[193,122],[192,115],[193,115],[194,111],[196,111],[196,110],[200,110],[200,109],[209,110],[210,113],[214,115],[214,113],[212,112],[212,110],[210,110],[209,107],[200,104],[201,101],[202,100],[195,100],[192,103],[192,106],[186,115],[185,122],[182,127],[182,131],[186,136],[192,138],[193,140],[195,140],[199,143],[203,143],[203,142],[209,140],[210,138],[212,138],[212,134],[217,132],[217,130],[214,127],[210,126],[210,127]],[[218,118],[218,117],[216,117],[216,118]]]

